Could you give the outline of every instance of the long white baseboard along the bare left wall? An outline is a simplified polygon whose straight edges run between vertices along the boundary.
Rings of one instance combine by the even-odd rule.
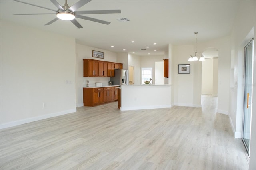
[[[14,127],[14,126],[17,126],[17,125],[22,125],[22,124],[25,124],[25,123],[39,121],[39,120],[42,120],[42,119],[47,119],[47,118],[56,117],[56,116],[60,116],[60,115],[66,115],[68,113],[73,113],[73,112],[76,112],[76,108],[75,109],[69,109],[69,110],[66,110],[66,111],[56,112],[56,113],[50,113],[48,115],[42,115],[42,116],[38,116],[38,117],[31,117],[31,118],[27,118],[27,119],[18,120],[18,121],[12,121],[12,122],[1,124],[0,129],[8,128],[8,127]]]

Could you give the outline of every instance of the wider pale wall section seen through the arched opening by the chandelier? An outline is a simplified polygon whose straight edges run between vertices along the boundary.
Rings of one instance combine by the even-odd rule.
[[[213,59],[202,62],[202,94],[212,95],[213,89]]]

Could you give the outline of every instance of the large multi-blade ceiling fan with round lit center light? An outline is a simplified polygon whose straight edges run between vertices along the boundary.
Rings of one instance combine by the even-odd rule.
[[[121,13],[121,10],[91,10],[91,11],[76,11],[78,10],[78,8],[81,8],[82,6],[84,6],[85,4],[87,4],[88,2],[92,1],[92,0],[79,0],[78,2],[76,2],[74,5],[72,6],[68,6],[67,4],[67,0],[65,0],[65,4],[63,6],[61,6],[56,0],[50,0],[57,8],[58,10],[53,10],[50,8],[46,8],[43,6],[38,6],[38,5],[34,5],[34,4],[30,4],[27,2],[23,2],[20,0],[14,0],[16,2],[21,2],[23,4],[28,4],[28,5],[32,5],[32,6],[36,6],[39,8],[44,8],[46,10],[51,10],[54,11],[56,13],[40,13],[40,14],[14,14],[14,15],[47,15],[47,14],[56,14],[56,18],[54,18],[53,20],[51,20],[50,22],[44,24],[44,25],[50,25],[53,22],[57,21],[58,19],[61,20],[70,20],[77,28],[83,28],[81,26],[81,24],[79,24],[79,22],[75,19],[75,18],[80,18],[80,19],[84,19],[84,20],[89,20],[89,21],[93,21],[93,22],[99,22],[101,24],[110,24],[110,22],[104,21],[104,20],[98,20],[96,18],[91,18],[88,16],[82,16],[83,14],[114,14],[114,13]]]

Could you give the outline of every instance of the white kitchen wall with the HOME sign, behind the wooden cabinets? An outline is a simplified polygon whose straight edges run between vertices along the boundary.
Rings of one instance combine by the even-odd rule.
[[[104,52],[104,59],[92,57],[92,50]],[[84,77],[84,61],[83,59],[96,59],[109,62],[118,62],[117,54],[114,52],[106,51],[103,49],[97,49],[86,45],[76,43],[76,106],[83,106],[83,85],[86,84],[86,80],[89,80],[89,84],[95,84],[95,82],[102,82],[108,84],[110,77]]]

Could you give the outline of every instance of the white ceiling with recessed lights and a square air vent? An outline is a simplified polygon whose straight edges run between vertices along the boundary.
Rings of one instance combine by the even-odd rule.
[[[64,0],[57,0],[63,5]],[[72,6],[78,0],[68,0]],[[30,4],[56,9],[50,0],[25,0]],[[76,38],[76,42],[116,53],[136,55],[163,55],[168,44],[194,44],[230,34],[236,11],[242,1],[232,0],[92,0],[81,10],[116,10],[121,14],[84,15],[111,22],[100,24],[77,18],[83,26],[78,29],[72,22],[58,20],[44,26],[55,15],[22,15],[30,13],[52,13],[50,10],[15,2],[0,0],[1,19],[56,32]],[[119,22],[118,18],[128,18],[129,22]],[[135,41],[131,43],[131,41]],[[153,43],[157,43],[153,45]],[[113,45],[114,47],[110,47]],[[146,47],[149,48],[146,48]],[[126,51],[123,51],[126,49]],[[147,49],[142,51],[141,49]],[[157,51],[154,51],[157,50]]]

